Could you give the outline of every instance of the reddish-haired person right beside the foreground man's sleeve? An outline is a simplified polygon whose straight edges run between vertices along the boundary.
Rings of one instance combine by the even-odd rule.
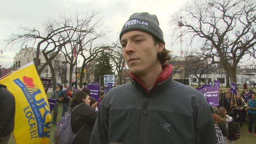
[[[209,106],[209,108],[212,113],[212,118],[213,118],[214,125],[215,125],[217,142],[224,143],[224,136],[228,135],[228,130],[226,128],[225,122],[220,118],[220,116],[218,114],[216,114],[214,112],[212,106]],[[221,130],[221,132],[218,131],[219,129]]]

